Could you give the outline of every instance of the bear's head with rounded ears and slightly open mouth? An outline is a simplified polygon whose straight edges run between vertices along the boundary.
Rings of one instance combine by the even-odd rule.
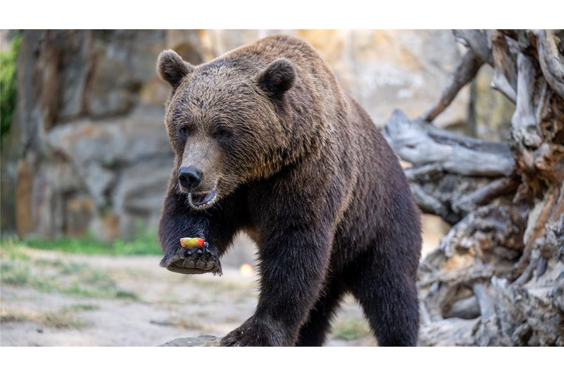
[[[192,207],[206,209],[280,169],[288,147],[285,96],[296,79],[290,61],[261,67],[227,55],[195,67],[167,50],[157,72],[171,86],[165,123],[178,189]]]

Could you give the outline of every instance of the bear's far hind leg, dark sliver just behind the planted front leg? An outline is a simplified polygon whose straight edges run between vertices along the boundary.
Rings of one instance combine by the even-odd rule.
[[[296,346],[322,346],[345,289],[332,279],[321,292],[307,321],[299,329]]]

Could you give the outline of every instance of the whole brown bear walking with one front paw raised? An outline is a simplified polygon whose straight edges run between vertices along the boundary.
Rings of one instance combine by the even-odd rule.
[[[221,273],[243,231],[260,294],[226,346],[320,346],[352,293],[380,346],[417,341],[420,213],[381,132],[308,43],[270,36],[193,66],[174,51],[161,266]],[[203,237],[183,249],[182,237]]]

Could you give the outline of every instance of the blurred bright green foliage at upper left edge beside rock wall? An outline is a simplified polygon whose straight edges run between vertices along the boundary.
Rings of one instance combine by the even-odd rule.
[[[17,98],[17,52],[20,49],[21,35],[11,41],[6,51],[0,52],[0,139],[10,130]]]

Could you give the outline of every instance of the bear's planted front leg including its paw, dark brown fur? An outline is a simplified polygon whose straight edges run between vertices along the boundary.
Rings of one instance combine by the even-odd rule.
[[[261,294],[257,309],[243,325],[223,337],[223,346],[294,346],[302,323],[323,290],[331,251],[330,229],[288,228],[280,223],[268,227],[274,233],[259,248]]]

